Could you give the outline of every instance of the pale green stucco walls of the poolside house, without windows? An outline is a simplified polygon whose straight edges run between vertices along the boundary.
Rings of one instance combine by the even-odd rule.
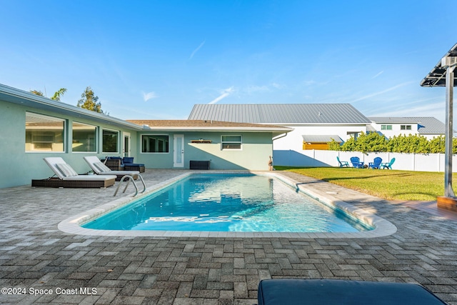
[[[65,140],[64,152],[26,151],[26,112],[64,119]],[[96,152],[74,152],[71,150],[73,122],[97,126],[98,144]],[[102,152],[102,131],[109,129],[119,131],[119,152]],[[146,132],[114,126],[103,121],[81,119],[77,115],[59,114],[51,110],[34,109],[30,106],[0,101],[0,188],[31,184],[32,179],[46,179],[54,175],[43,161],[46,156],[60,156],[79,174],[86,174],[90,167],[84,156],[123,156],[124,133],[130,134],[131,154],[136,163],[144,163],[146,168],[174,168],[174,134],[184,134],[184,169],[189,169],[190,160],[209,160],[211,169],[251,169],[267,170],[269,156],[273,154],[271,132]],[[169,152],[162,154],[145,154],[141,152],[141,134],[168,134]],[[241,135],[241,149],[221,149],[221,135]],[[211,144],[193,144],[192,140],[208,139]]]

